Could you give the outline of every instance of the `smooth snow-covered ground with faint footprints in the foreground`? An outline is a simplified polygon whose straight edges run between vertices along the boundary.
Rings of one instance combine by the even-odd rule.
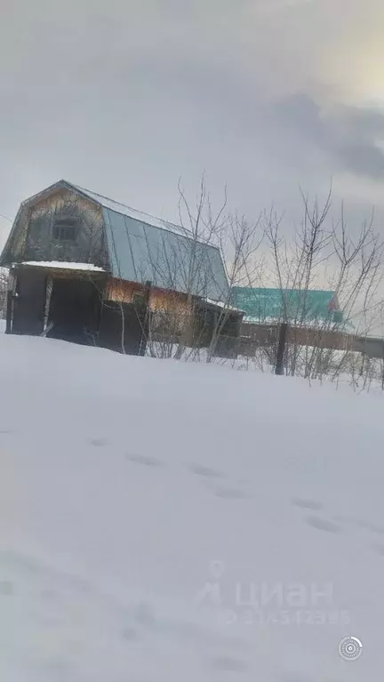
[[[383,397],[4,334],[0,381],[1,679],[380,678]]]

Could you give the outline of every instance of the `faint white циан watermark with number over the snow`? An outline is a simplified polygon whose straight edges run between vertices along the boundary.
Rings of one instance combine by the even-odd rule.
[[[212,561],[211,578],[197,604],[215,607],[220,625],[348,625],[348,611],[335,604],[332,582],[244,582],[223,580],[226,566]]]

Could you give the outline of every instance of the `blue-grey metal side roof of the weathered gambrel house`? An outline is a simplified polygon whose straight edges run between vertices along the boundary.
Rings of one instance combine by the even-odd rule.
[[[227,300],[228,279],[219,248],[196,240],[188,229],[78,185],[71,187],[102,206],[112,277]]]

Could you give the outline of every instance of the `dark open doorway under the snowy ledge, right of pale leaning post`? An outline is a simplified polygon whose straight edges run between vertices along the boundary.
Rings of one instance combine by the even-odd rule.
[[[89,345],[96,342],[101,293],[89,279],[53,279],[47,337]]]

